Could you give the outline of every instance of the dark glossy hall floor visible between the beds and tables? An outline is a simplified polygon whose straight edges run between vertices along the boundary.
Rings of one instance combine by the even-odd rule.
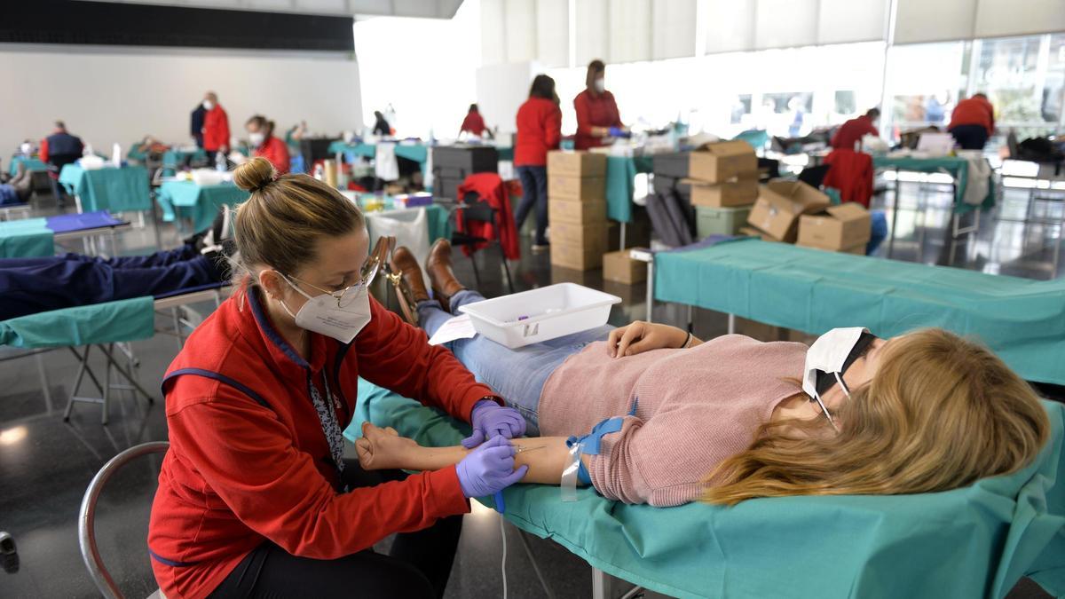
[[[1027,193],[1007,193],[996,215],[1023,214],[1026,197]],[[913,210],[906,209],[919,198],[932,206],[923,223]],[[876,205],[883,205],[885,199],[890,203],[890,194],[886,194],[886,198],[878,196]],[[902,207],[894,256],[903,260],[916,259],[915,232],[928,227],[928,234],[919,245],[920,258],[924,262],[941,262],[947,246],[939,231],[949,216],[949,196],[941,189],[932,188],[918,194],[916,184],[906,184]],[[1044,208],[1060,222],[1062,203],[1041,205],[1038,210]],[[178,234],[173,227],[164,228],[162,233],[165,246],[177,243]],[[958,247],[955,264],[1045,279],[1049,271],[1043,264],[1052,256],[1056,234],[1060,234],[1056,228],[1047,230],[1047,227],[996,224],[994,218],[985,220],[976,241]],[[124,236],[122,253],[148,252],[153,243],[154,234],[149,225],[147,229]],[[886,247],[881,254],[885,250]],[[584,275],[552,270],[546,256],[531,256],[528,252],[524,256],[513,271],[520,290],[573,280],[623,298],[621,307],[611,314],[612,324],[644,317],[643,286],[604,285],[599,273]],[[457,263],[460,277],[472,282],[469,262],[457,258]],[[502,274],[492,264],[496,262],[490,261],[481,268],[486,278],[481,290],[488,296],[504,291]],[[210,309],[210,305],[204,309]],[[685,315],[686,310],[677,306],[659,305],[655,310],[655,320],[659,322],[679,323]],[[160,319],[160,324],[165,324],[165,319]],[[695,310],[697,335],[707,338],[724,330],[725,320],[721,314]],[[133,350],[140,360],[141,381],[149,390],[158,389],[162,373],[177,351],[177,341],[158,335],[133,343]],[[0,352],[0,356],[11,355],[13,352]],[[0,597],[97,597],[78,550],[76,515],[82,493],[94,473],[118,451],[140,442],[165,439],[165,418],[158,401],[149,406],[143,399],[127,395],[112,406],[112,421],[108,426],[99,423],[99,407],[87,404],[78,405],[70,423],[64,423],[62,410],[75,374],[75,358],[68,351],[54,351],[45,354],[42,363],[50,383],[50,403],[40,392],[36,358],[0,361],[0,530],[14,535],[21,560],[17,573],[0,573]],[[109,486],[99,507],[97,531],[101,552],[113,565],[113,574],[129,596],[146,596],[150,592],[150,570],[143,539],[158,463],[158,458],[147,458],[120,473]],[[491,511],[477,507],[465,518],[448,597],[502,596],[501,534],[499,519]],[[507,525],[506,535],[509,596],[544,596],[522,547],[521,534]],[[526,538],[555,597],[591,595],[591,571],[587,564],[552,541]],[[355,582],[353,588],[357,588]],[[1046,595],[1033,583],[1021,581],[1011,597]]]

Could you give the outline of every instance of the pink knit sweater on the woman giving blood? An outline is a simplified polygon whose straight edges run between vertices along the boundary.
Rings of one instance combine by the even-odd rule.
[[[586,435],[624,417],[591,458],[592,484],[609,499],[688,503],[701,481],[751,443],[781,401],[801,392],[806,345],[727,335],[690,350],[613,359],[606,343],[570,356],[540,395],[540,434]],[[636,403],[636,415],[626,416]]]

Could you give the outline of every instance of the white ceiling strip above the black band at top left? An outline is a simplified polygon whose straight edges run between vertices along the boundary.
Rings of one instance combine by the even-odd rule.
[[[395,16],[449,19],[462,0],[109,0],[197,9],[264,11],[306,15]]]

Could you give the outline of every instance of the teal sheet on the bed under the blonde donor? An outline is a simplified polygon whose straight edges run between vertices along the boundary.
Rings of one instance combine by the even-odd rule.
[[[469,425],[359,381],[355,417],[423,446],[458,444]],[[735,507],[659,508],[555,485],[504,490],[507,518],[601,570],[673,597],[1000,598],[1021,576],[1065,594],[1065,406],[1044,402],[1052,438],[1009,476],[911,496],[790,497]],[[490,498],[479,500],[492,505]]]

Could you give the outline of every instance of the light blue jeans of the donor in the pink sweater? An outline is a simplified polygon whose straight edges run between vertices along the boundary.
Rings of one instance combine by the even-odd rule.
[[[484,298],[476,291],[460,291],[452,297],[452,311],[461,314],[459,307]],[[436,300],[417,305],[419,324],[430,337],[452,315],[441,309]],[[517,350],[480,335],[453,341],[447,343],[447,347],[477,381],[494,389],[508,406],[521,412],[528,423],[526,434],[536,437],[540,435],[540,393],[547,377],[566,358],[584,350],[585,345],[606,340],[612,329],[612,326],[603,325]]]

